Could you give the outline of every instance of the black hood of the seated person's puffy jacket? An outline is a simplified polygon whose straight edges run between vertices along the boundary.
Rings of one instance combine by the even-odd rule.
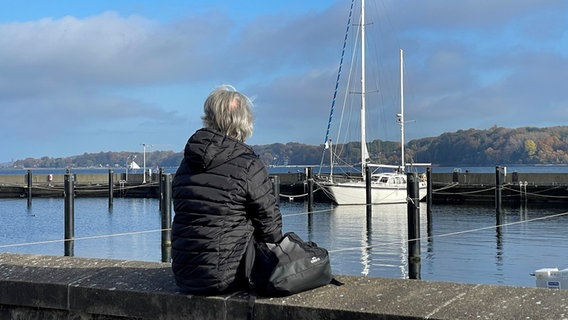
[[[211,129],[197,130],[184,149],[185,162],[199,171],[215,168],[243,154],[254,154],[246,144]]]

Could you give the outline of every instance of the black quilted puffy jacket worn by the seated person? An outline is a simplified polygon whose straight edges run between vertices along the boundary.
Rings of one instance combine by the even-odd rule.
[[[251,237],[275,242],[282,218],[272,183],[246,144],[200,129],[173,180],[172,270],[189,293],[239,289]]]

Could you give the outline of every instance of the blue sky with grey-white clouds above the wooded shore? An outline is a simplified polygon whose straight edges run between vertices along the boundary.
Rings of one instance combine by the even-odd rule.
[[[225,83],[254,98],[249,144],[322,144],[350,3],[0,0],[0,163],[181,151]],[[380,95],[398,94],[405,50],[407,141],[566,125],[568,1],[367,0],[367,11],[367,59],[394,79]],[[371,123],[371,138],[398,140]]]

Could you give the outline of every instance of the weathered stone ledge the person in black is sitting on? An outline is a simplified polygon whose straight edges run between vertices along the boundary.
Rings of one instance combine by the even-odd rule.
[[[568,291],[338,276],[256,319],[568,319]],[[0,253],[1,319],[246,319],[248,295],[178,291],[170,265]]]

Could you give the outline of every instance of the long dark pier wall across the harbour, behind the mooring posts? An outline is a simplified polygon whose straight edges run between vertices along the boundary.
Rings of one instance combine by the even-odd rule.
[[[308,196],[305,173],[280,173],[281,199],[301,201]],[[494,173],[432,173],[433,203],[493,203],[496,180]],[[108,197],[109,174],[74,174],[76,197]],[[144,180],[146,182],[144,183]],[[64,174],[32,174],[32,197],[63,197]],[[115,197],[159,198],[159,175],[112,174]],[[27,198],[30,186],[26,174],[0,175],[0,198]],[[502,200],[507,203],[568,204],[567,173],[507,173],[501,186]],[[314,187],[314,198],[325,195]]]

